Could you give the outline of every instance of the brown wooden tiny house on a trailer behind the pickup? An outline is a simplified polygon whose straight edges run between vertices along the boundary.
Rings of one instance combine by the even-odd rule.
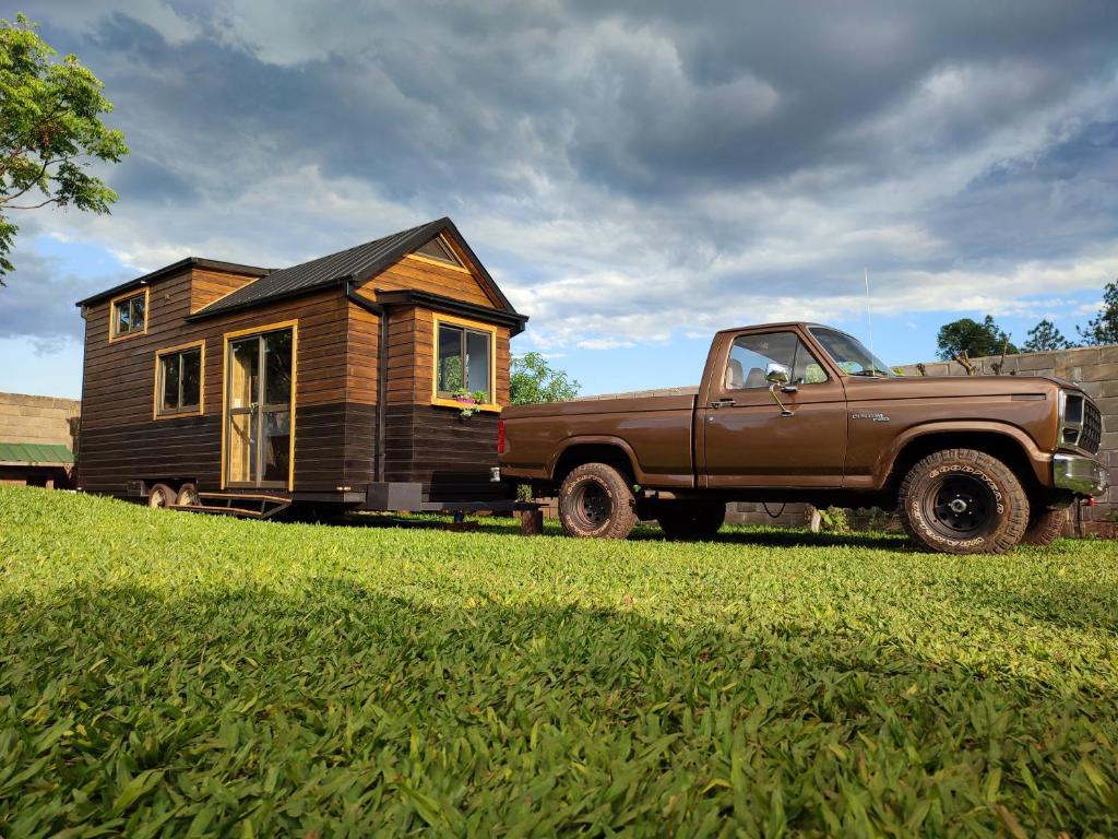
[[[378,509],[501,491],[527,318],[448,218],[287,268],[190,257],[78,305],[85,491]]]

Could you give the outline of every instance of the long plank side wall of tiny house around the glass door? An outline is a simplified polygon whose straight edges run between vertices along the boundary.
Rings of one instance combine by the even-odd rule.
[[[209,272],[207,272],[209,273]],[[333,490],[342,478],[347,389],[347,301],[338,289],[225,317],[187,323],[192,272],[152,285],[148,331],[108,342],[108,304],[86,312],[79,486],[121,492],[143,478],[196,479],[217,489],[220,479],[222,364],[226,332],[299,320],[295,413],[295,489]],[[155,351],[206,342],[206,413],[153,421]],[[333,428],[337,427],[337,436]]]

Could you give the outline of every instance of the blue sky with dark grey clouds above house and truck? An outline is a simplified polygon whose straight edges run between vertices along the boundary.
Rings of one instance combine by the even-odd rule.
[[[892,362],[1118,276],[1118,3],[0,0],[105,82],[110,217],[21,214],[0,390],[77,396],[73,301],[186,255],[282,266],[448,215],[586,393],[716,329]]]

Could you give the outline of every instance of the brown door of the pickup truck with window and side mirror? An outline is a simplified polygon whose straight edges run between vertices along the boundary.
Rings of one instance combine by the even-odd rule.
[[[842,486],[846,396],[837,375],[792,327],[721,337],[697,407],[700,486]],[[784,365],[790,381],[773,399],[766,370]],[[703,398],[705,397],[705,398]]]

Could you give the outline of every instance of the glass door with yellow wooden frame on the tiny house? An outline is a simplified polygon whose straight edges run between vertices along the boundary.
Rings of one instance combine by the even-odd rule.
[[[226,483],[230,487],[287,486],[293,343],[290,329],[229,342]]]

